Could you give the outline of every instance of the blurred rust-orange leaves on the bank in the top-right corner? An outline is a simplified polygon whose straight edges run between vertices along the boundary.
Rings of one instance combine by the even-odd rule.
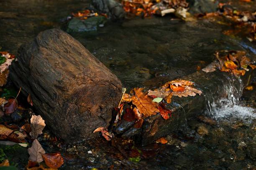
[[[240,11],[234,9],[230,3],[219,3],[216,13],[200,13],[197,18],[210,19],[218,24],[233,26],[233,30],[225,30],[223,34],[228,36],[241,35],[250,41],[256,40],[256,12]]]

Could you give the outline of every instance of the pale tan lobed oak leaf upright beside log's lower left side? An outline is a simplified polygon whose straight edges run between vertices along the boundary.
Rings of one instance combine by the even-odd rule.
[[[45,123],[40,115],[32,115],[30,123],[31,133],[29,133],[29,135],[31,135],[31,137],[35,139],[38,137],[38,135],[43,133],[42,130],[45,127]]]

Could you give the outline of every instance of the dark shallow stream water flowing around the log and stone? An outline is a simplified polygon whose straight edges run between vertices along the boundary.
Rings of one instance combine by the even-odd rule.
[[[235,1],[241,5],[240,1]],[[254,10],[250,5],[242,10]],[[50,28],[66,29],[66,18],[82,11],[90,0],[0,0],[1,51],[17,54],[18,47]],[[248,8],[250,7],[250,8]],[[218,50],[244,50],[256,60],[256,44],[246,38],[223,35],[226,25],[197,20],[173,20],[172,15],[133,18],[111,23],[97,33],[73,33],[95,57],[122,82],[123,87],[157,88],[197,71],[215,60]],[[247,170],[256,168],[256,78],[252,91],[234,86],[236,77],[223,89],[228,97],[207,96],[202,117],[165,136],[168,143],[139,146],[123,140],[125,147],[140,150],[139,160],[125,158],[99,136],[96,143],[62,145],[45,134],[38,138],[46,152],[60,152],[65,163],[60,170],[148,169],[148,170]],[[205,133],[200,134],[200,129]],[[94,141],[95,142],[95,141]],[[132,153],[131,153],[132,154]],[[22,168],[21,168],[22,169]],[[95,170],[95,169],[94,169]]]

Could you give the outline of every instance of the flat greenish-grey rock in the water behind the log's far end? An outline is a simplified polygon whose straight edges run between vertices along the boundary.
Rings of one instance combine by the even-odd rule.
[[[104,16],[94,16],[86,20],[73,18],[68,23],[67,32],[96,32],[99,27],[103,27],[108,19]]]

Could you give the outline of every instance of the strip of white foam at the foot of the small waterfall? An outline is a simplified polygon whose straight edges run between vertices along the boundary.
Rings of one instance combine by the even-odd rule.
[[[233,107],[223,107],[215,110],[214,118],[237,117],[243,120],[255,119],[256,110],[251,107],[234,105]]]

